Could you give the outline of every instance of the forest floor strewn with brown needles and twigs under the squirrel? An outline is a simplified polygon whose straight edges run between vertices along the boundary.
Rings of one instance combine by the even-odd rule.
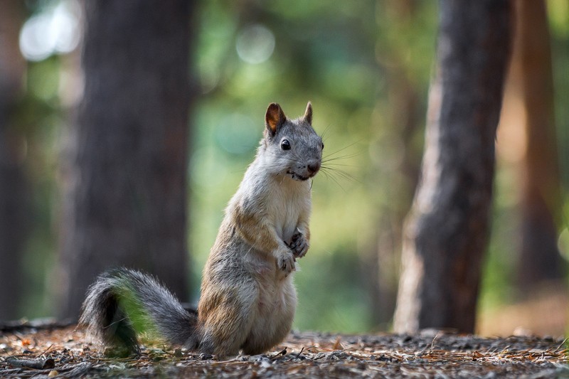
[[[0,325],[1,378],[569,378],[567,340],[293,332],[260,356],[218,360],[165,346],[108,358],[74,325]]]

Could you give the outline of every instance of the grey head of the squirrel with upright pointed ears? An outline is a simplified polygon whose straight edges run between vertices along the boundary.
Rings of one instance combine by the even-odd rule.
[[[287,119],[280,105],[271,103],[265,114],[265,127],[260,149],[272,173],[297,181],[305,181],[317,174],[324,144],[312,128],[310,102],[304,116],[297,119]]]

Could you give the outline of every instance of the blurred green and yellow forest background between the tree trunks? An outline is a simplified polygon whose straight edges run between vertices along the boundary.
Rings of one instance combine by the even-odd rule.
[[[0,319],[33,319],[60,314],[65,156],[83,98],[85,14],[73,0],[0,6],[0,197],[14,194],[4,196],[2,210],[14,218],[0,220],[0,287],[8,293],[0,297]],[[538,229],[527,227],[522,211],[525,110],[506,85],[479,299],[483,334],[560,335],[568,321],[569,2],[546,6],[555,121],[539,149],[555,152],[548,178],[560,196],[544,216],[555,232],[542,245],[552,245],[557,257],[545,274],[532,276],[522,241]],[[201,269],[225,204],[255,156],[267,105],[279,102],[297,117],[312,101],[331,170],[314,180],[311,249],[295,277],[294,328],[390,330],[401,229],[420,171],[437,2],[213,0],[199,2],[192,14],[191,274],[184,300],[198,300]],[[540,260],[538,250],[529,254]]]

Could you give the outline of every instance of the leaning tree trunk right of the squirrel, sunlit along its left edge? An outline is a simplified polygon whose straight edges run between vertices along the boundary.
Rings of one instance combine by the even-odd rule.
[[[404,228],[395,331],[474,331],[494,138],[510,45],[507,0],[442,0],[422,179]]]

